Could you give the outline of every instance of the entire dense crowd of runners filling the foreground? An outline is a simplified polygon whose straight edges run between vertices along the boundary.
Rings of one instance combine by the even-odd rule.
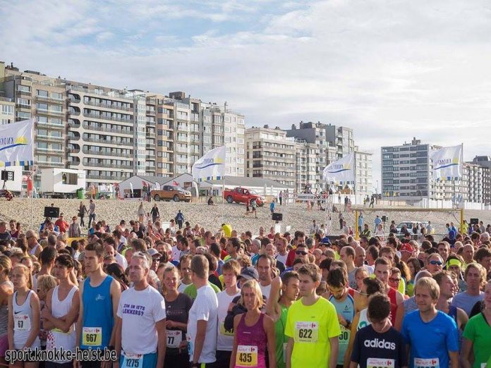
[[[355,240],[179,214],[169,228],[157,214],[98,221],[76,239],[63,218],[1,221],[0,364],[491,367],[487,231]],[[112,360],[35,355],[61,349]]]

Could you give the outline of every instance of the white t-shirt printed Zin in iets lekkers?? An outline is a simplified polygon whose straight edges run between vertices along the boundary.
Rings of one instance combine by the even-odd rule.
[[[152,286],[145,290],[123,291],[118,305],[121,326],[121,347],[131,354],[157,352],[158,321],[165,319],[164,297]]]

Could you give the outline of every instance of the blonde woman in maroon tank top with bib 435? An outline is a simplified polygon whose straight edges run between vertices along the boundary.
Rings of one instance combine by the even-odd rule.
[[[260,310],[264,302],[257,281],[250,280],[243,284],[241,304],[247,308],[247,312],[234,318],[234,350],[230,368],[266,368],[266,348],[269,368],[276,368],[274,322]]]

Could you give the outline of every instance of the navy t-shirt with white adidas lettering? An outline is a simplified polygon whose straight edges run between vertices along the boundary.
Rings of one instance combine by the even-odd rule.
[[[384,333],[378,333],[372,325],[363,327],[353,341],[351,362],[357,362],[360,368],[407,367],[404,338],[394,327]]]

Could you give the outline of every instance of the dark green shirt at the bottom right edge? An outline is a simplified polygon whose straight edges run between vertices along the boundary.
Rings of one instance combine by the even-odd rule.
[[[472,341],[474,352],[473,368],[480,368],[481,363],[491,359],[491,326],[487,324],[483,313],[479,313],[469,319],[463,337]]]

